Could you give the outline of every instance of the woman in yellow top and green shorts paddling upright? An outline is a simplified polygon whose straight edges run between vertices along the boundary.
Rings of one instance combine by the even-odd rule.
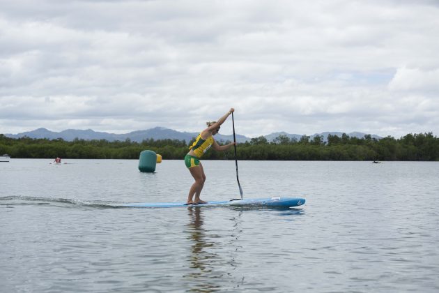
[[[213,147],[215,151],[226,151],[230,149],[231,146],[236,144],[236,142],[231,142],[230,144],[220,146],[213,139],[213,135],[218,133],[219,128],[221,128],[221,124],[226,121],[227,117],[229,117],[232,112],[235,112],[235,109],[231,108],[229,112],[224,114],[223,117],[219,118],[218,121],[207,122],[206,124],[208,128],[201,131],[195,142],[192,144],[192,146],[190,146],[190,151],[185,156],[185,164],[192,177],[194,177],[195,182],[192,184],[189,190],[186,204],[207,203],[200,199],[201,190],[203,189],[204,181],[206,181],[206,175],[204,174],[203,165],[201,165],[199,159],[204,153],[206,153],[206,151],[208,151],[208,149],[210,149],[210,147]]]

